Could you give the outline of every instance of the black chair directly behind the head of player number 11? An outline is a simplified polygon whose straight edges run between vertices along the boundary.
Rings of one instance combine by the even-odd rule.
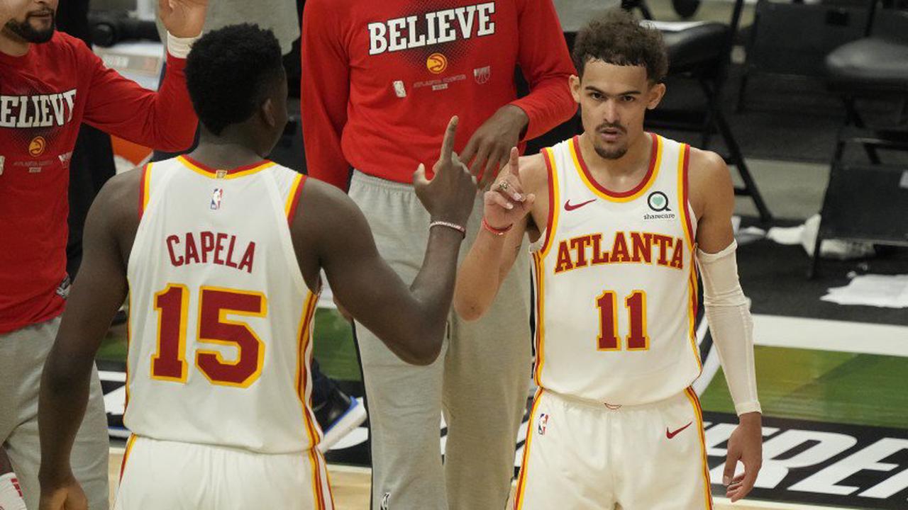
[[[627,10],[638,9],[646,19],[652,19],[645,0],[623,0],[621,6]],[[706,108],[696,111],[659,108],[647,113],[646,123],[654,128],[700,132],[703,148],[708,147],[713,134],[717,132],[721,135],[728,149],[728,153],[724,155],[725,162],[734,165],[744,181],[744,186],[735,188],[735,194],[750,197],[760,214],[760,221],[768,223],[773,220],[773,215],[747,170],[744,154],[741,153],[741,147],[735,140],[722,108],[722,89],[743,7],[744,0],[735,0],[728,25],[709,22],[680,30],[662,30],[668,49],[669,77],[683,76],[695,80],[706,96]],[[666,24],[668,25],[671,24]]]

